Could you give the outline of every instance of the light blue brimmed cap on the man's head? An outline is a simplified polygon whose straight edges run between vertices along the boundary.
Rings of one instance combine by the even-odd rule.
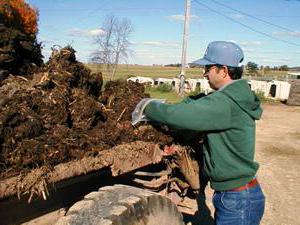
[[[219,64],[238,67],[244,59],[243,50],[237,44],[227,41],[214,41],[209,43],[203,58],[193,62],[196,65]]]

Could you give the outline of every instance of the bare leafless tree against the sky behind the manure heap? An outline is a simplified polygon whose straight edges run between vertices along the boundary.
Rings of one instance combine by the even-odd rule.
[[[108,15],[101,29],[104,33],[96,38],[98,49],[92,54],[92,62],[104,65],[112,80],[119,62],[126,60],[130,53],[129,38],[133,27],[127,18],[118,19],[114,15]]]

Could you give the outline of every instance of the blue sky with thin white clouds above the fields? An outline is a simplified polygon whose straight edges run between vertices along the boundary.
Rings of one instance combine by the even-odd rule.
[[[45,59],[51,47],[71,44],[89,62],[104,18],[131,21],[127,63],[181,62],[185,0],[26,0],[39,10],[38,40]],[[201,58],[211,41],[233,41],[247,62],[300,66],[300,0],[191,0],[187,62]],[[123,62],[125,63],[125,62]]]

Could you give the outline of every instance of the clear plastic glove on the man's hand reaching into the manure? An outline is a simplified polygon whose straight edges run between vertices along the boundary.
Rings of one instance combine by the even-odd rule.
[[[146,108],[146,106],[150,103],[150,102],[159,102],[159,103],[165,103],[166,99],[156,99],[156,98],[143,98],[135,107],[135,109],[133,110],[133,112],[131,113],[131,124],[134,126],[137,123],[141,122],[141,121],[149,121],[149,119],[147,119],[146,115],[144,114],[144,110]]]

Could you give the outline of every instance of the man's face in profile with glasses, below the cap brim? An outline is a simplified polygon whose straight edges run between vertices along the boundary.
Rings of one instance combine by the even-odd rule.
[[[210,87],[218,90],[223,82],[223,70],[217,65],[206,65],[203,76],[208,80]]]

